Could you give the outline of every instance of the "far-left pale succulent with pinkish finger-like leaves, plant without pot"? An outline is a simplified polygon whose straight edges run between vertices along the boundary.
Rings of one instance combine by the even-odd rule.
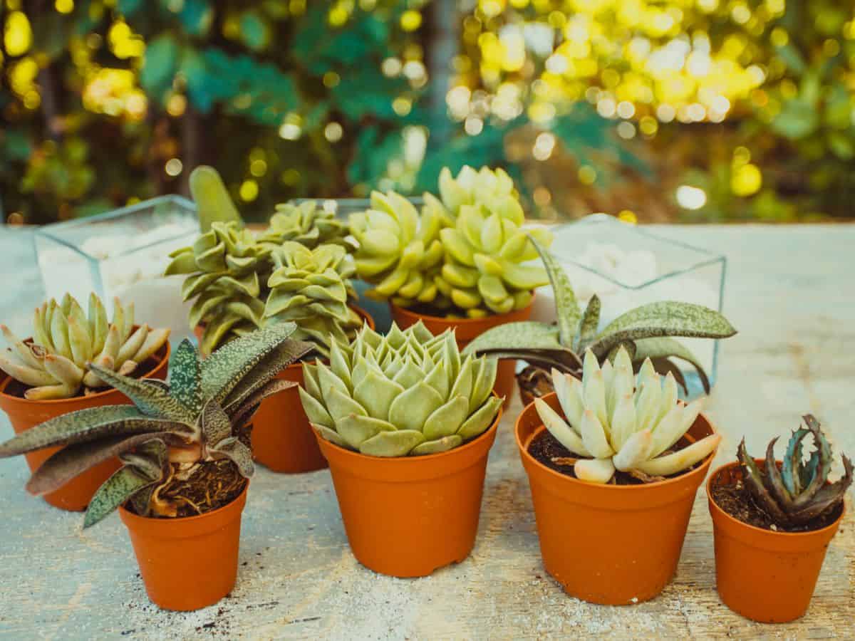
[[[169,330],[148,325],[133,328],[133,303],[122,306],[113,300],[113,321],[94,293],[89,297],[89,315],[68,294],[62,303],[50,299],[36,308],[32,319],[32,342],[22,341],[0,325],[9,348],[0,352],[0,369],[13,379],[30,385],[24,396],[33,401],[70,398],[108,384],[90,367],[130,374],[154,356],[169,338]]]

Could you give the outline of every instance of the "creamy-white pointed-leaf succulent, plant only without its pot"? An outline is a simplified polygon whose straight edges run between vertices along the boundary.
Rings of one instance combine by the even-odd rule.
[[[579,456],[577,478],[608,483],[621,471],[641,479],[661,478],[691,468],[716,450],[721,435],[711,434],[669,452],[700,413],[702,400],[677,401],[674,375],[660,377],[648,360],[634,379],[627,350],[599,367],[593,352],[585,355],[581,381],[552,370],[564,417],[541,398],[535,399],[547,430]]]

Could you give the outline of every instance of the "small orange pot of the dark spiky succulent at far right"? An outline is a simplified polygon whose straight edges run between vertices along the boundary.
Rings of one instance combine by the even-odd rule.
[[[755,459],[761,468],[763,459]],[[781,623],[804,615],[811,603],[825,550],[840,516],[813,532],[773,532],[728,515],[712,498],[714,485],[741,479],[739,462],[717,468],[706,484],[716,542],[716,588],[734,612],[763,623]]]

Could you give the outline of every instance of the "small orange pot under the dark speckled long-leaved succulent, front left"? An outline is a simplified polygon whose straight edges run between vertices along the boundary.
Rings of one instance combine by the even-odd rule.
[[[119,508],[152,603],[196,610],[232,591],[248,487],[220,509],[183,519],[150,519]]]

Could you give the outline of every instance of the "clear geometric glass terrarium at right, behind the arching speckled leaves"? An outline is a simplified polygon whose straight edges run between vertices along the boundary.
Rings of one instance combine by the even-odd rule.
[[[569,275],[581,307],[597,294],[600,327],[629,309],[656,301],[683,301],[722,311],[727,260],[714,252],[657,236],[604,214],[554,228],[552,253]],[[535,297],[534,316],[554,321],[551,288]],[[679,338],[716,380],[718,341]],[[686,376],[689,396],[703,391],[693,366],[675,359]]]

